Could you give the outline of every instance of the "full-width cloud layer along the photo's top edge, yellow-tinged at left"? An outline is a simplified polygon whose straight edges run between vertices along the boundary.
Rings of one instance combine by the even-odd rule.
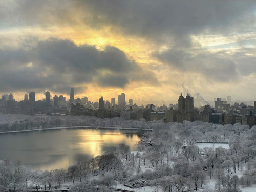
[[[3,26],[72,26],[79,22],[176,46],[190,46],[190,35],[253,29],[255,1],[6,1],[0,8]],[[255,26],[254,26],[255,27]]]

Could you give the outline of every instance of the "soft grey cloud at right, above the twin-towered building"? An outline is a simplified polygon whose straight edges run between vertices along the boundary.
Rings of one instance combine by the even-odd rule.
[[[245,57],[244,54],[240,54],[242,50],[233,54],[227,51],[212,53],[199,50],[199,53],[191,54],[184,50],[169,49],[162,53],[155,53],[154,56],[178,71],[198,73],[209,81],[229,82],[238,80],[240,75],[256,72],[255,68],[254,70],[251,68],[255,56]]]

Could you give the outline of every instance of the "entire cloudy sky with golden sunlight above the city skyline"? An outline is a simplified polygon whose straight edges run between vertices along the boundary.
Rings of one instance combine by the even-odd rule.
[[[0,94],[256,100],[256,1],[0,1]]]

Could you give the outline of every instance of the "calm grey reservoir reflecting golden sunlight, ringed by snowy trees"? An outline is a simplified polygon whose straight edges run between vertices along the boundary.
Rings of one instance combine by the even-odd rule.
[[[68,168],[124,143],[132,150],[142,131],[119,129],[58,129],[0,134],[0,160],[20,160],[32,169]]]

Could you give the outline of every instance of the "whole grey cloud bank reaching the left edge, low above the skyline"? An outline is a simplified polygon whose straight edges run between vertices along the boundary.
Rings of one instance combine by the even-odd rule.
[[[79,84],[94,81],[102,87],[123,88],[133,81],[132,74],[147,73],[115,47],[106,46],[100,51],[94,46],[76,46],[70,40],[53,38],[39,41],[31,50],[0,50],[0,58],[2,91],[30,88],[68,93],[70,87],[82,91],[86,87]]]

